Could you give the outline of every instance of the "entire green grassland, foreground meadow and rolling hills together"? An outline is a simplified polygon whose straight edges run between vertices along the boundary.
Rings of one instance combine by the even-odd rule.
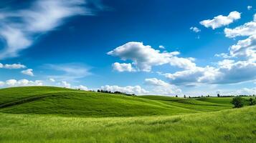
[[[255,142],[256,107],[231,99],[0,89],[0,142]]]

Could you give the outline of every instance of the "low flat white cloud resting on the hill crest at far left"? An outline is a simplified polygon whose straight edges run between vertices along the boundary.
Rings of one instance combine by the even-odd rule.
[[[21,79],[17,81],[16,79],[9,79],[5,82],[7,87],[24,87],[24,86],[42,86],[43,83],[40,80],[29,81],[27,79]]]

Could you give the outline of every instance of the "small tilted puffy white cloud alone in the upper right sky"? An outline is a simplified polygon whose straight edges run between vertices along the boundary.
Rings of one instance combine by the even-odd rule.
[[[232,24],[235,20],[240,18],[241,18],[240,12],[232,11],[229,13],[228,16],[222,16],[222,15],[215,16],[214,19],[207,19],[204,21],[200,21],[200,24],[202,24],[207,28],[211,27],[212,29],[217,29],[219,27]]]

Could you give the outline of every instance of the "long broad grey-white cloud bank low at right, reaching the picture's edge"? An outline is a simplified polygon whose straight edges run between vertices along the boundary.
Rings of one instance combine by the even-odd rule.
[[[198,84],[235,84],[256,78],[256,63],[253,61],[234,61],[224,59],[218,67],[196,66],[194,69],[162,74],[171,84],[196,86]]]

